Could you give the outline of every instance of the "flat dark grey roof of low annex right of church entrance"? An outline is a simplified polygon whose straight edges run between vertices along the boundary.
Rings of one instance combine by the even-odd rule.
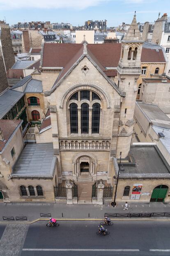
[[[132,146],[129,152],[132,162],[122,160],[125,171],[119,178],[170,178],[170,166],[156,146]],[[118,164],[114,165],[118,171]]]

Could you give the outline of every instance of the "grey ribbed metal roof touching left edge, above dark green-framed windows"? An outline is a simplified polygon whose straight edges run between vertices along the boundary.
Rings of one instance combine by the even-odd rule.
[[[23,92],[7,90],[0,94],[0,119],[23,97]]]

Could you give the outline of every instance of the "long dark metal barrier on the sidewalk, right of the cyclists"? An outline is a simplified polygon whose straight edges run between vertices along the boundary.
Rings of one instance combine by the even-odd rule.
[[[170,212],[151,212],[151,213],[108,213],[104,214],[105,217],[110,218],[150,218],[150,217],[170,217]]]

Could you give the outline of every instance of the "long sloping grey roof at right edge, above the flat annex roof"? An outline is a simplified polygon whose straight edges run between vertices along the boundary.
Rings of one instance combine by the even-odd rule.
[[[138,101],[136,102],[136,105],[154,126],[170,129],[170,118],[163,113],[159,106]]]

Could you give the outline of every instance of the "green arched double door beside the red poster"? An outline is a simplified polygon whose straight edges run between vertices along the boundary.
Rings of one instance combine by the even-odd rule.
[[[166,185],[157,186],[156,188],[154,188],[152,192],[150,202],[164,202],[167,191],[168,191],[168,186]]]

